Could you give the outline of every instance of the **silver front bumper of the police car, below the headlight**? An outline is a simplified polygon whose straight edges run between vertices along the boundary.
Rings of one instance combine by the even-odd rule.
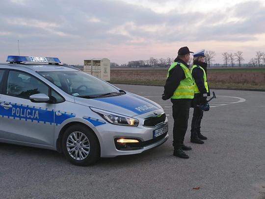
[[[147,118],[148,116],[148,114],[145,114],[141,117]],[[139,119],[138,117],[136,118]],[[154,131],[166,126],[167,118],[165,122],[155,127],[145,127],[142,125],[143,119],[140,118],[139,120],[138,127],[118,126],[108,123],[93,129],[100,141],[101,157],[140,154],[163,144],[168,139],[167,133],[154,138]],[[117,139],[136,139],[139,143],[128,144],[129,148],[120,149],[118,147],[119,144],[116,142]]]

